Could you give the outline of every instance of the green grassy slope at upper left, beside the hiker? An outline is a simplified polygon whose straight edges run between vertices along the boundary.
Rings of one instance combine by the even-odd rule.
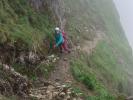
[[[0,41],[5,42],[7,34],[11,42],[21,39],[32,48],[52,33],[54,23],[49,16],[50,11],[37,12],[27,0],[1,0]]]

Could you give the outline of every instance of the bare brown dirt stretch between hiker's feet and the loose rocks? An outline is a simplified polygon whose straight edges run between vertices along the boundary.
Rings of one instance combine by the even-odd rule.
[[[49,81],[67,83],[73,80],[69,68],[69,55],[61,55],[60,61],[57,63],[54,71],[49,77]]]

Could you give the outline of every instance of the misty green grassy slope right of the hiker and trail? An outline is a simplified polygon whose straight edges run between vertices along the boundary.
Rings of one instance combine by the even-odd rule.
[[[67,28],[71,37],[80,37],[81,43],[85,39],[92,40],[95,36],[93,26],[106,33],[106,38],[99,42],[92,55],[86,58],[86,54],[82,54],[83,57],[72,61],[75,78],[98,93],[97,87],[101,85],[97,83],[114,94],[128,94],[127,80],[131,72],[125,70],[132,70],[133,57],[112,0],[66,0],[66,5],[70,7]],[[89,33],[84,27],[89,28]]]

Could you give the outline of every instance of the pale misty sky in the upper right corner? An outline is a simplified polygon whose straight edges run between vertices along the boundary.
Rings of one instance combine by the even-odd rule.
[[[133,48],[133,0],[114,0],[119,11],[123,28]]]

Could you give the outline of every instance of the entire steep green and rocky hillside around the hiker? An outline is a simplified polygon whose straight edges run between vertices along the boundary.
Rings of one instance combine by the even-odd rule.
[[[68,33],[72,52],[67,56],[52,48],[56,26]],[[55,89],[58,80],[83,100],[124,100],[133,95],[132,65],[132,50],[112,0],[0,1],[0,92],[6,97],[25,96],[32,88],[45,100],[42,91]],[[42,84],[47,87],[33,89]]]

